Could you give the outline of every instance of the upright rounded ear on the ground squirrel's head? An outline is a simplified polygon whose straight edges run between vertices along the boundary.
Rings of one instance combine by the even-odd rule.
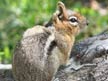
[[[66,7],[64,5],[64,3],[62,3],[61,1],[58,2],[58,8],[59,8],[59,16],[62,16],[64,19],[67,19],[67,11],[66,11]]]

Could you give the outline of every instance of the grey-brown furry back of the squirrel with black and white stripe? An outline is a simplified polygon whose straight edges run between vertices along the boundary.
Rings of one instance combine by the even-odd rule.
[[[58,55],[52,54],[55,53],[53,50],[56,50]],[[16,79],[22,81],[23,76],[26,81],[49,81],[48,77],[52,78],[51,74],[55,73],[53,71],[57,71],[60,65],[59,53],[54,30],[42,26],[28,29],[14,53],[13,72]]]

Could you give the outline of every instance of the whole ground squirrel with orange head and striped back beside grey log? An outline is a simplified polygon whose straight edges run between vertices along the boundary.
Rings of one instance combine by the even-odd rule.
[[[62,2],[57,6],[51,21],[53,27],[29,28],[17,44],[12,63],[16,81],[52,81],[58,68],[67,64],[75,36],[88,23]]]

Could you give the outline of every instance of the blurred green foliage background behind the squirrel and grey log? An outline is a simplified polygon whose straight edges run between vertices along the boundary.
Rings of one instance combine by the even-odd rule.
[[[61,0],[85,15],[88,28],[77,41],[108,28],[108,0]],[[22,33],[34,25],[43,25],[56,10],[58,0],[0,0],[0,63],[11,63],[13,49]]]

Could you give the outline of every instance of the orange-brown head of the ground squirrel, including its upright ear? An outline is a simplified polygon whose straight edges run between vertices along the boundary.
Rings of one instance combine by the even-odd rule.
[[[63,30],[70,34],[77,34],[88,25],[84,16],[66,9],[62,2],[58,2],[58,11],[53,14],[52,23],[56,30]]]

